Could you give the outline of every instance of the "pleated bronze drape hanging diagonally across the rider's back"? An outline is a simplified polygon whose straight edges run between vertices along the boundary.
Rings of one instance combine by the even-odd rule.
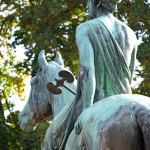
[[[95,102],[111,95],[130,93],[131,73],[123,50],[99,18],[88,24],[88,35],[94,51]]]

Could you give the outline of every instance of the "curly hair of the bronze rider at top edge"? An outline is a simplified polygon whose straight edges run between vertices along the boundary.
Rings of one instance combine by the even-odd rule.
[[[115,12],[117,9],[117,4],[119,4],[122,0],[93,0],[94,4],[97,8],[103,7],[109,12]]]

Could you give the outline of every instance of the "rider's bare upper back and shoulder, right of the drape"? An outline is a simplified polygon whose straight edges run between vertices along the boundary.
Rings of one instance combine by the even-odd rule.
[[[120,46],[127,66],[129,67],[131,63],[131,55],[137,46],[137,39],[134,31],[129,28],[126,24],[111,16],[101,16],[99,18],[90,20],[92,24],[101,21],[108,30],[112,33],[118,45]]]

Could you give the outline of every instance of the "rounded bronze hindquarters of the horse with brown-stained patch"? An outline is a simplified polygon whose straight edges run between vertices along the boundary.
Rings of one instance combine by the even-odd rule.
[[[144,150],[140,110],[150,112],[150,98],[123,94],[95,103],[79,116],[81,132],[72,131],[66,150]]]

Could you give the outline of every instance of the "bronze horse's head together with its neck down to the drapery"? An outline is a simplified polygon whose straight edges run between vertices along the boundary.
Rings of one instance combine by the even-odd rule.
[[[19,115],[20,128],[26,132],[34,131],[38,123],[43,121],[45,117],[53,115],[55,118],[62,108],[72,102],[75,97],[65,88],[62,88],[63,92],[59,95],[52,94],[47,90],[47,83],[54,82],[55,78],[60,78],[58,73],[67,69],[64,68],[59,52],[56,52],[55,61],[50,61],[49,63],[46,61],[44,53],[44,51],[41,51],[39,54],[38,64],[40,68],[36,76],[30,81],[29,99]],[[67,82],[65,84],[74,91],[76,90],[76,79],[72,84]]]

